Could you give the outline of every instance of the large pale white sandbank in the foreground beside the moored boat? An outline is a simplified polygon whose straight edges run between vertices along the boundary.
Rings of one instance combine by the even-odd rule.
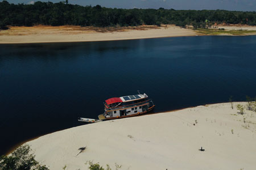
[[[36,160],[52,170],[65,165],[88,169],[88,160],[112,169],[117,163],[122,169],[254,170],[256,113],[237,114],[230,106],[213,104],[104,121],[44,135],[28,145]],[[86,150],[76,156],[83,146]],[[204,152],[199,151],[201,146]]]

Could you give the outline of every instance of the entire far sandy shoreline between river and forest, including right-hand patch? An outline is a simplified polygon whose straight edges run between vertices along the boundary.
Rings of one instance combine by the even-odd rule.
[[[228,31],[234,32],[234,30],[239,33],[241,29],[251,31],[250,34],[241,35],[256,35],[256,27],[238,25],[222,27],[227,32],[224,31],[223,33],[222,31],[218,35],[230,35]],[[220,26],[219,28],[222,27]],[[52,27],[38,25],[34,27],[10,27],[10,29],[2,30],[0,31],[0,44],[115,41],[205,35],[215,34],[180,28],[175,25],[162,25],[161,27],[142,25],[121,28],[80,27],[74,25]]]

